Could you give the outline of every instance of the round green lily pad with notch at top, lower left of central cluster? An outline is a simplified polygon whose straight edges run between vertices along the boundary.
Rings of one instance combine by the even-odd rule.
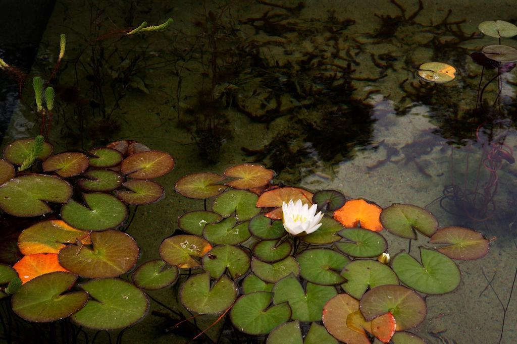
[[[218,314],[233,305],[237,298],[237,287],[226,276],[222,276],[210,288],[208,273],[191,276],[179,290],[181,304],[199,314]]]

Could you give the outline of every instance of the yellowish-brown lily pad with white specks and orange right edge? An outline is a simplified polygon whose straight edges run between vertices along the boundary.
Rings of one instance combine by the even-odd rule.
[[[160,257],[181,269],[201,267],[201,257],[212,249],[202,237],[179,235],[167,238],[160,245]]]

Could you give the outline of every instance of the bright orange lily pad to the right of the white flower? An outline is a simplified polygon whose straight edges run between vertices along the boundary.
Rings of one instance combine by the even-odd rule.
[[[343,207],[334,211],[334,218],[346,228],[361,227],[375,232],[383,230],[379,220],[382,208],[366,199],[348,200]]]

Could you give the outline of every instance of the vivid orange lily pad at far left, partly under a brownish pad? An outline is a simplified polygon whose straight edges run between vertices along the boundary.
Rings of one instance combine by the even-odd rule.
[[[29,282],[29,280],[33,278],[50,272],[68,272],[68,270],[59,264],[57,254],[55,253],[37,253],[34,255],[24,256],[13,265],[13,269],[18,272],[18,276],[22,280],[22,283]]]

